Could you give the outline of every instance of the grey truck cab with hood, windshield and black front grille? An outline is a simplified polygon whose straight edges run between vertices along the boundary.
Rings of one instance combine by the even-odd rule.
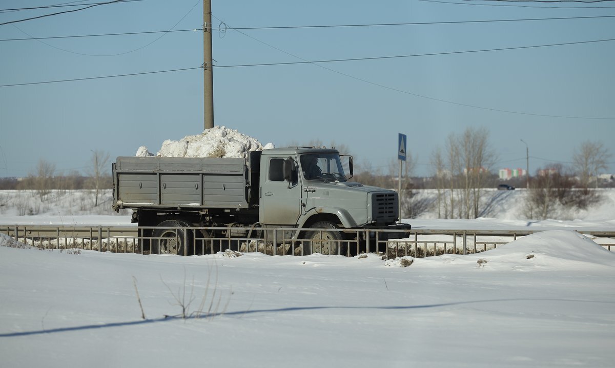
[[[316,223],[344,229],[394,226],[399,220],[397,193],[349,181],[352,158],[346,157],[347,161],[343,161],[334,148],[263,151],[261,223],[299,228]]]

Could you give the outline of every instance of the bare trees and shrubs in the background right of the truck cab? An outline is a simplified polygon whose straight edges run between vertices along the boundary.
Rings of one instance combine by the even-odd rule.
[[[499,161],[498,153],[489,142],[489,131],[484,127],[470,127],[460,134],[451,133],[442,147],[435,147],[430,158],[433,169],[429,178],[411,177],[415,162],[411,154],[407,155],[410,162],[403,173],[402,188],[404,218],[415,218],[426,210],[434,210],[438,218],[481,217],[496,195],[485,188],[494,188],[501,183],[499,176],[492,173]],[[608,169],[611,157],[603,143],[586,141],[575,148],[571,166],[548,164],[539,167],[534,175],[526,173],[530,178],[523,215],[544,219],[552,217],[561,207],[587,209],[600,201],[596,190],[600,186],[615,186],[615,178],[601,181],[599,177]],[[359,170],[356,178],[366,185],[397,188],[397,170],[394,162],[389,165],[389,175],[382,175],[368,166]],[[507,183],[525,187],[526,179],[517,177]],[[415,190],[419,188],[437,190],[435,200],[417,198]]]

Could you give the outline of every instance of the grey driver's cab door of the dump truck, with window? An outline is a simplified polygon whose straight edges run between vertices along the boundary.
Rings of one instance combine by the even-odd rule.
[[[267,225],[295,225],[301,213],[301,186],[298,175],[284,180],[284,161],[287,157],[268,157],[261,162],[259,217]],[[265,165],[263,165],[263,163]]]

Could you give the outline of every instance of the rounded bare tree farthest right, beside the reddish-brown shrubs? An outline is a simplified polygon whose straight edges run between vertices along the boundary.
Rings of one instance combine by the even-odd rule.
[[[579,175],[581,186],[589,187],[592,177],[595,178],[596,188],[598,188],[598,174],[601,170],[606,170],[606,162],[611,158],[611,153],[602,142],[585,141],[579,148],[574,150],[573,166]]]

